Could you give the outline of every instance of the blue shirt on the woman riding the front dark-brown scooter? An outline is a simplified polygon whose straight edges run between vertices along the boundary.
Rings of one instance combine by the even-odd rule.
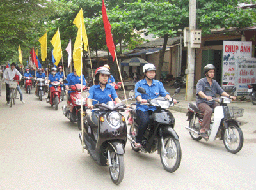
[[[118,97],[114,87],[112,87],[109,84],[106,84],[104,91],[102,91],[102,89],[100,89],[99,84],[93,85],[92,87],[90,87],[89,94],[90,95],[88,98],[97,99],[99,101],[99,103],[107,103],[108,101],[112,101],[112,99],[114,100],[115,98]],[[93,101],[92,104],[95,105],[95,103],[98,103],[98,102]]]

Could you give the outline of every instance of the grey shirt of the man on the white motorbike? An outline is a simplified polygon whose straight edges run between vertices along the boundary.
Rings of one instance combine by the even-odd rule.
[[[212,79],[212,85],[211,90],[213,91],[205,91],[205,87],[210,87],[209,82],[207,81],[207,78],[201,78],[198,80],[196,84],[196,105],[200,103],[206,103],[207,105],[214,105],[215,101],[207,101],[205,98],[202,98],[198,95],[198,92],[202,91],[206,96],[215,97],[216,94],[222,94],[224,92],[223,89],[221,89],[220,85],[216,80]]]

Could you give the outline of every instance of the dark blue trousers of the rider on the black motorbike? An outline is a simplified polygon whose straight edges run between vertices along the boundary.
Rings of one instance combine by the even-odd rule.
[[[138,134],[136,136],[136,143],[141,143],[142,136],[149,124],[149,115],[152,113],[152,111],[143,112],[141,110],[137,110],[136,113],[138,122],[140,123],[138,128]]]

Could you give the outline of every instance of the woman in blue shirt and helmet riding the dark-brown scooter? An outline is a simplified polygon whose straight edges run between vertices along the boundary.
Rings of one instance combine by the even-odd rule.
[[[87,106],[89,109],[93,109],[95,103],[107,103],[108,101],[115,100],[116,103],[121,103],[118,98],[114,87],[107,84],[110,72],[107,68],[99,67],[95,71],[95,85],[90,87],[89,97],[87,99]],[[97,101],[93,101],[96,99]]]

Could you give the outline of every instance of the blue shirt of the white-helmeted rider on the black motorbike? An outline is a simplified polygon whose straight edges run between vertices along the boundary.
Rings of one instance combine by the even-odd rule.
[[[147,94],[141,94],[139,92],[137,92],[138,87],[142,87],[143,89],[146,90],[146,93],[150,96],[148,97]],[[137,96],[141,96],[142,99],[153,99],[153,98],[157,98],[159,96],[166,96],[166,94],[169,94],[163,86],[163,83],[160,82],[159,80],[152,80],[152,85],[149,86],[147,84],[147,80],[146,78],[144,78],[143,80],[140,80],[136,83],[135,85],[135,98],[137,98]],[[147,105],[140,105],[140,103],[136,103],[136,110],[141,110],[141,111],[148,111],[148,110],[156,110],[156,107],[154,106],[147,106]]]

